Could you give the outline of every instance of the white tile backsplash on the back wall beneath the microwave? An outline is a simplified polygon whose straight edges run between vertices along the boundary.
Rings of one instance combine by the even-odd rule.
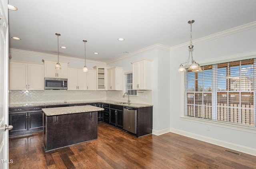
[[[35,104],[50,102],[79,102],[106,100],[106,91],[70,91],[70,90],[42,90],[42,91],[9,91],[9,104]]]

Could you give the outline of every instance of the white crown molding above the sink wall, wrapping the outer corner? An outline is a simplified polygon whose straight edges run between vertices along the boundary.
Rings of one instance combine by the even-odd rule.
[[[162,44],[160,44],[160,43],[156,43],[156,44],[151,45],[151,46],[149,46],[149,47],[145,47],[145,48],[143,48],[143,49],[140,49],[139,51],[130,53],[130,54],[128,54],[128,55],[125,55],[124,57],[119,57],[118,59],[114,59],[114,60],[112,60],[112,61],[109,61],[109,62],[107,62],[106,64],[114,63],[114,62],[116,62],[116,61],[121,61],[121,60],[127,59],[127,58],[129,58],[129,57],[133,57],[133,56],[135,56],[135,55],[139,55],[139,54],[141,54],[141,53],[145,53],[145,52],[147,52],[147,51],[152,51],[152,50],[154,50],[154,49],[162,49],[162,50],[165,50],[165,51],[170,51],[170,47],[165,46],[165,45],[162,45]]]

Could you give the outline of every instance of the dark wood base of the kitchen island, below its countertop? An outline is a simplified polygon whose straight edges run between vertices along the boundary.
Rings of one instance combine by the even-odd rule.
[[[97,112],[45,116],[44,147],[51,151],[98,138]]]

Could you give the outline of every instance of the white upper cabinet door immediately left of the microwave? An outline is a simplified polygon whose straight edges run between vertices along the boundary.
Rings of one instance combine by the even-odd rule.
[[[28,90],[44,90],[44,65],[28,64]]]

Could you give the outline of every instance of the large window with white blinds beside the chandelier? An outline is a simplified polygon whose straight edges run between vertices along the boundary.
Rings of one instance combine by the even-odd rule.
[[[186,72],[185,116],[256,126],[254,59]]]

